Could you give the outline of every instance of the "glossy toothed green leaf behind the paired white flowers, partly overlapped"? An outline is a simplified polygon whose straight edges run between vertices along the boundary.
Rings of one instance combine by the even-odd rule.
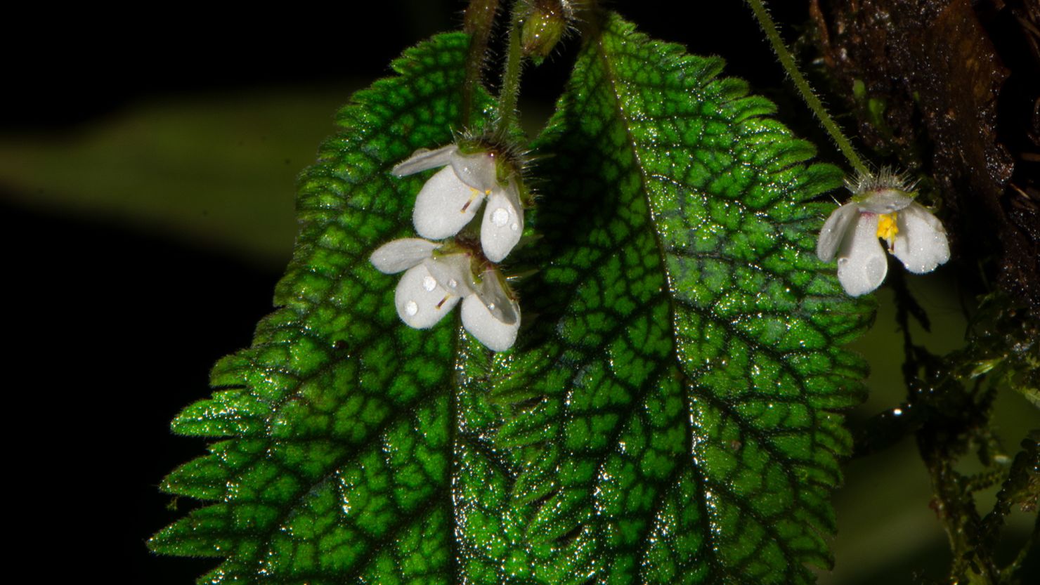
[[[422,179],[389,169],[451,141],[467,46],[456,33],[408,51],[397,77],[340,112],[342,133],[300,180],[283,309],[216,365],[213,397],[174,421],[231,437],[162,485],[215,503],[150,541],[226,559],[200,582],[494,583],[499,567],[523,575],[537,552],[517,544],[515,462],[485,438],[500,424],[482,390],[488,352],[459,334],[458,313],[432,330],[400,324],[397,276],[368,262],[413,236]],[[479,129],[492,110],[477,103]]]

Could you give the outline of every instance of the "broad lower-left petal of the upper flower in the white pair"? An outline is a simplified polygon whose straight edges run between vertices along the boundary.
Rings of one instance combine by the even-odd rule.
[[[484,193],[463,183],[450,166],[437,171],[415,197],[412,222],[423,238],[443,240],[476,215]]]

